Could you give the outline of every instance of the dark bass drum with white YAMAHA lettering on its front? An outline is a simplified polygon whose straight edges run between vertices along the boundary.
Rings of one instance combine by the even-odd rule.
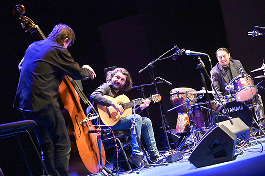
[[[251,110],[248,108],[248,106],[245,103],[238,101],[231,101],[226,103],[224,106],[227,109],[227,112],[230,117],[233,118],[239,117],[248,127],[251,127],[253,121],[253,115]],[[226,115],[223,106],[218,106],[216,111]],[[225,120],[228,120],[226,116],[219,116],[218,119],[216,120],[216,123]]]

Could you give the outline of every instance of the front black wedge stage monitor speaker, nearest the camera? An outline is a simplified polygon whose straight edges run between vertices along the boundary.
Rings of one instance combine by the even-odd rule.
[[[188,158],[197,168],[230,161],[234,157],[237,136],[223,124],[210,129]]]

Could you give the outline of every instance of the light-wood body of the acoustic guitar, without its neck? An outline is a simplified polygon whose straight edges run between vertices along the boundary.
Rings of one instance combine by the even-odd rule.
[[[106,99],[114,101],[118,104],[124,104],[130,102],[130,99],[126,95],[119,95],[117,97],[110,97],[104,95]],[[120,115],[112,106],[106,107],[98,105],[98,111],[102,122],[107,126],[114,126],[120,120],[120,118],[132,115],[132,108],[125,109],[125,111]]]

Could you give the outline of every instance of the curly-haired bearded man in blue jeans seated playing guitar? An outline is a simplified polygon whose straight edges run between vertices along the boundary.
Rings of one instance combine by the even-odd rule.
[[[122,115],[124,109],[121,105],[117,104],[114,101],[106,99],[103,95],[108,95],[111,97],[117,97],[122,92],[126,92],[130,90],[132,87],[132,78],[130,73],[124,68],[116,68],[113,71],[109,71],[106,75],[106,83],[102,84],[98,87],[90,96],[91,101],[94,101],[96,104],[102,106],[112,106],[117,112]],[[147,106],[149,106],[150,100],[144,99],[142,104],[136,109],[136,113],[143,110]],[[131,160],[137,166],[141,165],[142,157],[141,151],[137,142],[137,138],[135,134],[133,134],[133,115],[128,115],[126,117],[121,117],[121,119],[115,124],[111,126],[113,130],[125,130],[131,128],[132,134],[132,157]],[[147,117],[141,117],[136,114],[136,128],[138,132],[138,136],[141,136],[141,132],[143,134],[144,140],[147,145],[148,152],[150,154],[150,158],[153,162],[157,160],[159,157],[159,152],[156,146],[156,141],[154,138],[154,131],[152,127],[151,120]]]

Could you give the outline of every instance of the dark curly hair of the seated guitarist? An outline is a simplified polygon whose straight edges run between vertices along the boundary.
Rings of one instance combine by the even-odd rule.
[[[124,84],[123,88],[121,89],[121,91],[129,91],[133,85],[133,82],[132,82],[132,78],[131,78],[131,75],[130,73],[124,69],[124,68],[121,68],[121,67],[118,67],[112,71],[108,71],[107,74],[106,74],[106,81],[107,82],[111,82],[112,78],[114,77],[114,75],[117,73],[117,72],[121,72],[123,75],[126,75],[126,83]]]

